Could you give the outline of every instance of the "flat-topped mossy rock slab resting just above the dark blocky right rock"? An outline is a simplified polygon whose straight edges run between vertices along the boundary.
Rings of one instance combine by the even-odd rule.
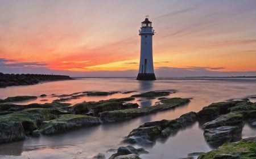
[[[203,124],[203,128],[216,128],[221,126],[242,126],[243,124],[243,114],[239,113],[228,113],[225,115],[220,115],[213,121]]]

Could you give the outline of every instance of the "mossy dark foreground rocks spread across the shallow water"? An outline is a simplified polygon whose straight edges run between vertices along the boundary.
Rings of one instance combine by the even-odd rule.
[[[64,94],[58,97],[108,96],[117,92],[79,92]],[[24,140],[27,136],[54,135],[108,122],[124,121],[141,117],[150,113],[174,109],[189,102],[187,98],[167,98],[173,92],[145,92],[125,98],[81,102],[71,106],[68,103],[52,102],[46,104],[16,105],[10,102],[29,100],[34,96],[16,96],[0,100],[0,144]],[[46,94],[42,94],[43,97]],[[136,97],[158,98],[154,106],[139,108],[134,102]],[[65,101],[65,100],[64,100]],[[199,153],[199,159],[204,158],[253,158],[255,157],[256,138],[242,139],[241,133],[245,123],[256,127],[256,102],[246,99],[240,101],[218,102],[205,106],[199,112],[189,112],[179,118],[147,122],[135,128],[123,143],[154,146],[156,140],[166,139],[193,123],[199,122],[204,130],[205,141],[213,151]],[[139,154],[147,153],[142,148],[131,145],[120,147],[110,158],[140,158]],[[242,148],[246,145],[246,149]],[[99,154],[93,158],[105,158]],[[194,158],[188,155],[185,158]]]

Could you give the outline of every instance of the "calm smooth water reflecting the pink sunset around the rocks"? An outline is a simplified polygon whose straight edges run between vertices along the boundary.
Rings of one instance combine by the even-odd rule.
[[[72,94],[84,91],[119,91],[120,93],[106,97],[82,97],[67,101],[71,104],[82,101],[98,101],[109,98],[129,97],[132,94],[147,91],[176,90],[170,97],[192,98],[188,105],[174,110],[146,115],[125,122],[108,123],[100,126],[81,128],[60,135],[29,137],[24,141],[0,145],[0,158],[92,158],[98,153],[109,157],[113,152],[109,149],[118,148],[124,136],[144,122],[159,121],[161,119],[175,119],[189,111],[199,111],[212,102],[241,99],[256,95],[256,79],[158,79],[156,81],[137,81],[134,78],[80,78],[68,81],[52,81],[37,85],[0,88],[0,98],[9,96],[29,95],[38,97],[36,100],[18,102],[28,104],[33,102],[51,102],[57,99],[51,94]],[[126,91],[135,93],[122,94]],[[255,102],[253,98],[249,98]],[[48,101],[41,101],[48,100]],[[142,100],[142,101],[137,101]],[[154,105],[158,100],[137,98],[141,106]],[[256,136],[256,130],[245,124],[243,137]],[[137,147],[135,145],[135,147]],[[149,154],[142,154],[142,158],[180,158],[192,152],[207,152],[210,147],[204,141],[203,130],[195,123],[175,136],[166,140],[157,141],[154,147],[146,148]]]

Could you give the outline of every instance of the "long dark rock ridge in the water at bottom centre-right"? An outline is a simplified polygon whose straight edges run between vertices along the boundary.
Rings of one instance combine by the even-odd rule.
[[[162,120],[144,123],[131,131],[124,141],[131,144],[152,145],[156,139],[168,137],[179,131],[180,128],[187,127],[194,122],[196,122],[196,113],[190,112],[170,121]]]

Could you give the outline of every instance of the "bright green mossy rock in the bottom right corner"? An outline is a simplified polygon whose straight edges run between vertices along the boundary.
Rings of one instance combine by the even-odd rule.
[[[201,154],[198,159],[249,159],[256,158],[256,137],[226,143],[213,151]]]

